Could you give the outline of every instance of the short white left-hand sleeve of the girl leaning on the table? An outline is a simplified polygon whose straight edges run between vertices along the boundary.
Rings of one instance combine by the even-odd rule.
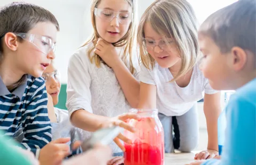
[[[151,70],[147,69],[143,64],[140,65],[141,70],[140,70],[140,81],[146,84],[151,84],[151,85],[156,85]]]

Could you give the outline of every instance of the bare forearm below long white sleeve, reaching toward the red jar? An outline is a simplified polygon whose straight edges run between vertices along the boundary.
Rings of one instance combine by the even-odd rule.
[[[74,126],[89,132],[97,131],[107,119],[109,117],[95,115],[84,109],[74,111],[70,117],[71,123]]]

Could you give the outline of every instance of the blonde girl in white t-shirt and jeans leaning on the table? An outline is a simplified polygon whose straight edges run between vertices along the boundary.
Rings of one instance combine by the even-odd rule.
[[[142,15],[137,35],[142,62],[139,108],[159,110],[165,152],[190,152],[198,144],[197,101],[204,97],[208,146],[195,159],[207,159],[218,155],[220,93],[198,68],[196,22],[186,0],[155,1]]]

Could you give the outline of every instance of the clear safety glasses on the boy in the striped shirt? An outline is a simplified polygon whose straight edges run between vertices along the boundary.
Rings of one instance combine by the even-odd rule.
[[[38,34],[29,33],[14,33],[16,36],[22,38],[23,40],[29,41],[31,44],[35,45],[39,51],[44,54],[49,54],[51,51],[55,52],[56,44],[53,43],[52,39],[41,36]]]

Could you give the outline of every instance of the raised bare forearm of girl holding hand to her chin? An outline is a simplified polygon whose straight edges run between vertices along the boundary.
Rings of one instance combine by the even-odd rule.
[[[135,79],[123,62],[118,63],[113,70],[124,92],[125,98],[133,108],[137,108],[140,92],[139,81]]]

